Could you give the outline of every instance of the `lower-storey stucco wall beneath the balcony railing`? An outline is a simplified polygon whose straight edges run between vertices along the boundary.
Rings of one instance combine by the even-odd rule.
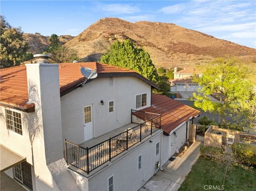
[[[114,175],[114,190],[138,190],[154,175],[156,162],[160,160],[161,151],[156,156],[156,143],[161,144],[159,132],[150,138],[153,142],[141,144],[132,152],[110,164],[97,175],[89,178],[89,190],[108,190],[108,178]],[[138,156],[142,154],[142,168],[138,170]],[[127,181],[129,180],[129,181]]]

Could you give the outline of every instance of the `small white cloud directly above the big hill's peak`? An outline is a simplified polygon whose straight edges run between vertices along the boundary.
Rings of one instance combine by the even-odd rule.
[[[105,4],[102,5],[101,9],[111,14],[131,14],[140,12],[137,6],[130,4]]]

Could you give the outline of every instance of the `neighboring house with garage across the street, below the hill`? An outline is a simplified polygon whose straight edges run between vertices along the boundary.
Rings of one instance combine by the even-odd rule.
[[[199,77],[202,76],[202,73],[197,68],[187,67],[180,71],[174,68],[173,73],[174,79],[169,81],[171,92],[197,92],[197,89],[201,87],[193,82],[193,76],[195,74]]]

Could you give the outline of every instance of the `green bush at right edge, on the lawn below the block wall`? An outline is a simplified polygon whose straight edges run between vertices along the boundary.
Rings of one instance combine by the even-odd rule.
[[[256,167],[256,146],[235,143],[231,148],[238,163]]]

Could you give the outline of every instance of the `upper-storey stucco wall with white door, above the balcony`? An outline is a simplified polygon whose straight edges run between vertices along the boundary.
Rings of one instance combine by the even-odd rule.
[[[150,85],[137,77],[115,77],[113,81],[114,86],[109,86],[109,78],[97,78],[61,97],[63,139],[76,144],[85,141],[83,108],[86,105],[93,104],[93,137],[130,123],[135,95],[147,93],[147,106],[150,106]],[[115,112],[108,113],[108,101],[112,100]]]

